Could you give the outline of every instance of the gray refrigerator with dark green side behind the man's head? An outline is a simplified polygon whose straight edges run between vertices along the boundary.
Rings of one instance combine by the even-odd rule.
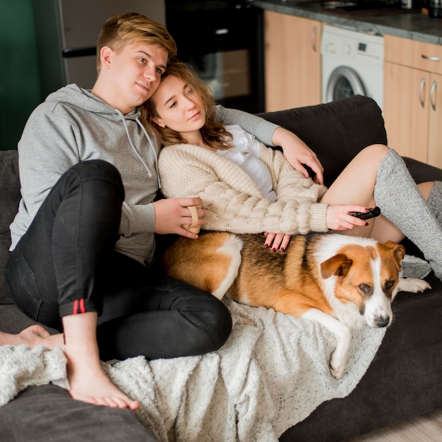
[[[91,89],[97,78],[96,42],[117,13],[137,12],[165,25],[165,0],[32,0],[44,100],[64,85]]]

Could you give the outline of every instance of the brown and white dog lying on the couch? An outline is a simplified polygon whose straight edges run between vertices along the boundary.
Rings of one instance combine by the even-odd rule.
[[[399,277],[402,245],[343,234],[292,237],[287,251],[266,249],[263,235],[208,232],[180,237],[165,252],[168,275],[225,294],[242,304],[265,306],[318,321],[335,335],[330,370],[340,378],[352,328],[388,327],[399,290],[422,292],[424,280]]]

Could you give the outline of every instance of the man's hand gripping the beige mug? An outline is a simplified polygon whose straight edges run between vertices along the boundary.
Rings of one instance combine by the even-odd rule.
[[[192,224],[192,214],[189,205],[202,204],[199,196],[189,198],[168,198],[153,203],[155,208],[155,233],[175,233],[186,238],[196,239],[198,235],[184,229],[183,225]],[[198,224],[205,224],[204,217],[207,215],[205,209],[197,209]]]

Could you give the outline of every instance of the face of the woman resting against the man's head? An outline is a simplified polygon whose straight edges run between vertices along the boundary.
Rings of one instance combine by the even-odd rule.
[[[170,75],[162,80],[151,100],[160,115],[153,121],[179,132],[185,139],[186,134],[199,131],[205,124],[201,95],[178,77]]]

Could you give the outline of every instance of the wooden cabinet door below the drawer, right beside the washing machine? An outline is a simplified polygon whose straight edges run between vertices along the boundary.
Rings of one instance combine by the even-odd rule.
[[[383,117],[388,145],[406,157],[428,161],[429,73],[385,62]]]

